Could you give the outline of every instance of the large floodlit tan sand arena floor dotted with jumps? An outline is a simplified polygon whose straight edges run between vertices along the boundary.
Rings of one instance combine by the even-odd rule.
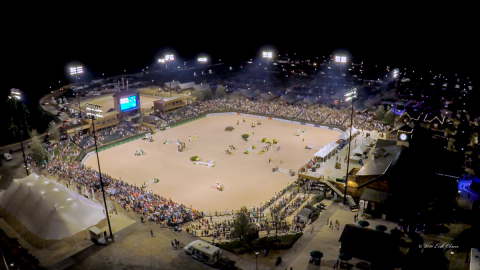
[[[237,125],[237,120],[240,120],[240,125]],[[257,120],[261,120],[262,125],[252,128],[252,122]],[[235,130],[225,131],[227,126]],[[294,136],[300,129],[306,129],[306,133]],[[252,135],[252,132],[255,134]],[[189,142],[189,136],[194,139],[197,133],[199,138]],[[248,142],[240,136],[244,133],[250,135]],[[147,185],[148,190],[171,197],[177,203],[192,205],[194,209],[238,210],[242,206],[260,206],[275,192],[297,179],[297,175],[274,173],[273,167],[297,172],[317,151],[305,149],[309,142],[320,147],[336,140],[339,134],[333,130],[274,120],[217,115],[160,131],[152,136],[153,142],[138,139],[101,151],[100,165],[103,173],[137,186],[158,178],[160,182]],[[278,144],[273,150],[259,154],[264,145],[261,142],[263,137],[269,141],[277,139]],[[173,142],[177,139],[186,143],[184,152],[177,151],[177,144]],[[302,142],[302,139],[305,141]],[[165,145],[165,140],[172,143]],[[236,147],[231,155],[225,153],[229,145]],[[243,151],[252,145],[256,149],[244,154]],[[136,149],[143,149],[145,155],[135,156]],[[190,161],[191,156],[211,159],[215,167],[194,165]],[[85,165],[97,169],[96,155],[88,157]],[[224,187],[223,191],[216,189],[217,181]]]

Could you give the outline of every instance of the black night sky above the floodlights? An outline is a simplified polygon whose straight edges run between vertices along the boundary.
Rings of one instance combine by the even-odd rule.
[[[208,53],[222,62],[255,58],[265,45],[282,55],[312,59],[342,49],[354,62],[461,74],[474,74],[478,59],[477,33],[465,11],[452,17],[415,8],[398,14],[376,9],[337,14],[328,9],[297,16],[288,6],[263,13],[247,6],[237,14],[227,7],[193,13],[179,7],[105,9],[80,3],[60,8],[42,4],[4,10],[2,99],[14,87],[35,103],[49,86],[58,88],[73,79],[65,69],[72,61],[80,61],[92,73],[117,75],[151,66],[165,48],[174,49],[177,59]]]

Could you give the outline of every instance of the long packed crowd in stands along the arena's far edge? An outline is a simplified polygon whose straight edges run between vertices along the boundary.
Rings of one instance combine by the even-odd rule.
[[[351,110],[349,108],[335,109],[326,106],[313,105],[284,105],[275,101],[252,101],[239,99],[214,99],[189,104],[176,112],[160,115],[165,122],[159,126],[182,121],[185,118],[195,117],[209,112],[238,111],[271,115],[292,120],[308,121],[315,124],[331,125],[348,128],[350,126]],[[374,123],[373,116],[354,113],[353,125],[357,129],[385,131],[382,124]],[[388,127],[389,128],[389,127]]]

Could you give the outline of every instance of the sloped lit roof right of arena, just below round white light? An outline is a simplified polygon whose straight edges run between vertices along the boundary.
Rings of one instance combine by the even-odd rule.
[[[367,159],[365,165],[363,165],[362,168],[360,168],[360,170],[357,172],[357,176],[385,174],[385,172],[390,167],[392,161],[400,152],[401,147],[397,145],[392,145],[382,147],[382,149],[383,151],[388,152],[388,154],[384,156],[379,156],[378,158],[374,159]]]

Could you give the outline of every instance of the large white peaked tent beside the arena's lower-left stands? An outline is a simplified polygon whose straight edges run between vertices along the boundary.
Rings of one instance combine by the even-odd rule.
[[[0,205],[45,240],[73,236],[105,218],[100,204],[35,173],[14,179],[0,194]]]

